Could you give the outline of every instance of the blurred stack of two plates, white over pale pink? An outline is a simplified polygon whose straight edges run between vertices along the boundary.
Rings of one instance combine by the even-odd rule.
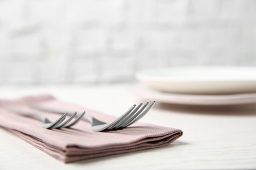
[[[256,103],[256,67],[170,67],[140,71],[143,99],[186,105]]]

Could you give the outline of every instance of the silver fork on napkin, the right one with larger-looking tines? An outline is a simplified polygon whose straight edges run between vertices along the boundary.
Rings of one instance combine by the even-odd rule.
[[[156,101],[154,101],[148,108],[147,105],[148,102],[142,107],[142,103],[136,107],[136,105],[133,105],[130,109],[128,109],[122,116],[117,118],[112,123],[106,123],[102,122],[95,117],[85,114],[85,118],[87,118],[91,122],[91,129],[93,131],[110,131],[110,130],[116,130],[116,129],[123,129],[125,127],[130,126],[131,124],[134,124],[140,118],[146,115],[146,113],[154,106]],[[42,107],[39,105],[30,105],[33,109],[42,110],[45,112],[54,112],[58,114],[63,114],[64,110],[56,110],[56,109],[50,109],[46,107]]]

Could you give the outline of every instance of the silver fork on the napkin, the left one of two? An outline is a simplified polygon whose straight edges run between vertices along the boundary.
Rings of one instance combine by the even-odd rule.
[[[74,112],[74,114],[72,114],[70,116],[70,118],[68,118],[66,121],[64,121],[66,119],[66,116],[68,115],[68,112],[65,112],[62,114],[62,116],[60,116],[60,118],[58,118],[58,120],[56,120],[55,122],[51,122],[46,116],[44,116],[42,114],[35,114],[32,112],[27,112],[27,111],[20,110],[17,108],[9,108],[9,110],[12,112],[15,112],[16,114],[20,114],[22,116],[28,116],[30,118],[35,118],[37,120],[41,120],[43,122],[42,127],[46,128],[46,129],[60,129],[62,127],[68,128],[68,127],[74,126],[85,115],[85,112],[82,112],[82,114],[80,114],[73,122],[71,122],[71,120],[73,120],[75,115],[77,114],[77,112]],[[70,124],[68,124],[68,123],[70,123]]]

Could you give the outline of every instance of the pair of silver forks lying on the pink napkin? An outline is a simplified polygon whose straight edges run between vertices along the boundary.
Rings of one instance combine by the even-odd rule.
[[[74,126],[77,124],[80,120],[82,120],[83,117],[87,118],[89,122],[91,122],[91,129],[93,131],[99,132],[99,131],[112,131],[117,129],[123,129],[125,127],[130,126],[131,124],[134,124],[140,118],[145,116],[150,109],[154,106],[156,102],[152,102],[148,106],[148,102],[142,106],[142,103],[140,105],[133,105],[130,109],[128,109],[123,115],[121,115],[119,118],[114,120],[114,122],[107,123],[102,122],[101,120],[96,119],[95,117],[91,116],[90,114],[87,114],[82,112],[77,118],[75,116],[77,115],[77,112],[74,112],[73,114],[70,114],[70,118],[66,119],[66,116],[70,113],[63,110],[56,110],[56,109],[50,109],[46,107],[41,107],[39,105],[30,105],[33,109],[41,110],[44,112],[53,112],[57,114],[62,114],[60,118],[58,118],[56,121],[51,122],[49,118],[44,116],[43,114],[37,114],[34,112],[28,112],[24,110],[20,110],[14,107],[9,108],[11,112],[14,112],[16,114],[20,114],[21,116],[27,116],[30,118],[35,118],[37,120],[41,120],[43,122],[42,127],[46,129],[61,129],[61,128],[68,128],[71,126]]]

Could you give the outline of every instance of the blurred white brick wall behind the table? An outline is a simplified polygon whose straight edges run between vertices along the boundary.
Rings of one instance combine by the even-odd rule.
[[[0,84],[255,65],[256,0],[0,0]]]

